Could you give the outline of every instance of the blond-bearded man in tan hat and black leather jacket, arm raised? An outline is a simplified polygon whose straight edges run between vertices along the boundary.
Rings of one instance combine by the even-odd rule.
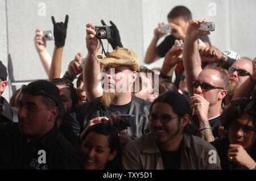
[[[138,138],[147,132],[147,115],[151,104],[131,94],[139,71],[138,56],[133,50],[119,47],[106,56],[98,54],[101,46],[96,32],[92,29],[94,25],[89,23],[86,27],[88,54],[83,75],[89,101],[77,107],[77,120],[80,121],[81,131],[87,125],[100,123],[102,118],[108,120],[112,113],[119,111],[121,114],[135,116],[132,127],[128,127],[125,132],[119,132],[119,138],[127,138],[127,135]],[[104,82],[102,86],[101,79]]]

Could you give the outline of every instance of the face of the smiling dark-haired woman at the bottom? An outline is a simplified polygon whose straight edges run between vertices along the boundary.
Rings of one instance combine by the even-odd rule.
[[[109,136],[90,132],[82,143],[81,156],[86,170],[102,170],[108,160],[114,159],[110,153]]]

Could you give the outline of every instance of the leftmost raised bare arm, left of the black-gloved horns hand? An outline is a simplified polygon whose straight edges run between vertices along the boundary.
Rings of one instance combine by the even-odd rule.
[[[46,40],[44,40],[43,34],[40,33],[40,31],[42,30],[40,29],[36,30],[36,35],[34,38],[35,48],[38,52],[39,58],[44,67],[44,71],[46,71],[46,74],[49,77],[49,70],[51,67],[52,57],[49,55],[49,53],[46,50]]]

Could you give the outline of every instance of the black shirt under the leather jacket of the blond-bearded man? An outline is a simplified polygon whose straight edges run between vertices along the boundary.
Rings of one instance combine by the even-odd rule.
[[[102,115],[106,117],[110,117],[110,115],[115,111],[119,111],[121,114],[127,115],[129,113],[130,107],[131,107],[131,102],[125,105],[110,104],[109,107],[102,106]]]

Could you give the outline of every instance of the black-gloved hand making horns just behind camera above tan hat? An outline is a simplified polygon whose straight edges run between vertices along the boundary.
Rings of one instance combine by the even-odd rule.
[[[103,26],[106,26],[106,23],[104,22],[104,20],[101,20],[101,23]],[[109,41],[110,45],[112,46],[113,50],[117,46],[122,48],[123,45],[121,43],[121,37],[119,35],[117,26],[115,26],[115,24],[112,21],[110,21],[110,24],[112,25],[109,27],[111,37],[108,38],[108,41]]]

